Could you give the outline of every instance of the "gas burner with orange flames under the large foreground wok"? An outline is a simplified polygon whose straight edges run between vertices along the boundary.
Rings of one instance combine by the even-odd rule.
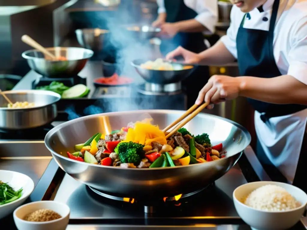
[[[195,192],[192,193],[188,193],[188,194],[179,194],[177,196],[174,197],[164,197],[161,199],[154,199],[149,201],[150,199],[146,200],[146,201],[142,201],[142,200],[138,200],[135,198],[129,198],[129,197],[116,197],[116,196],[112,196],[109,194],[105,194],[99,190],[96,190],[90,186],[88,186],[94,193],[98,194],[99,196],[111,199],[111,200],[116,200],[116,201],[123,201],[126,203],[130,203],[130,204],[142,204],[144,205],[144,213],[155,213],[156,212],[156,206],[157,205],[161,205],[163,203],[169,203],[169,202],[175,202],[174,205],[179,206],[181,204],[181,201],[184,201],[185,198],[187,197],[191,197],[193,195],[199,194],[202,191],[204,191],[205,189],[208,189],[210,187],[214,186],[214,182],[212,184],[209,184],[208,186],[204,187],[203,189],[197,190]],[[150,202],[150,203],[147,203]],[[155,206],[150,205],[150,204],[155,204]]]

